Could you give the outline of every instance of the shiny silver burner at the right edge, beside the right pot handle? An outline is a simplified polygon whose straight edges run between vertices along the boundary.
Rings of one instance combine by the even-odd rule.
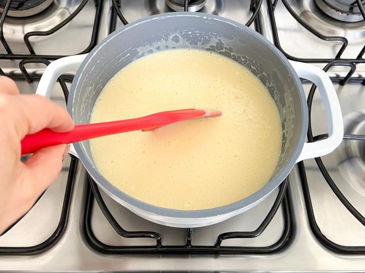
[[[365,110],[352,112],[343,118],[344,134],[365,135]],[[344,159],[339,171],[360,195],[365,197],[365,141],[346,140],[341,146]]]

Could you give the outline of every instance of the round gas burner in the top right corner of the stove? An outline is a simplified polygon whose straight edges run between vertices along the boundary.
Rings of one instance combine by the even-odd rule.
[[[318,7],[330,17],[343,22],[362,21],[356,0],[315,0]],[[365,5],[365,0],[361,3]]]

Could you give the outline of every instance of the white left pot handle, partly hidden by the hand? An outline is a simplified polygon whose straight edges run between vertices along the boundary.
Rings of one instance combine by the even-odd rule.
[[[86,55],[87,54],[67,56],[52,61],[45,68],[35,93],[49,98],[58,77],[66,72],[76,71]],[[72,144],[70,144],[68,153],[78,158]]]

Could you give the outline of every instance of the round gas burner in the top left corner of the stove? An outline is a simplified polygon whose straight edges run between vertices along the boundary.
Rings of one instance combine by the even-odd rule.
[[[10,1],[10,0],[9,0]],[[53,0],[11,0],[8,16],[28,17],[46,9]],[[0,0],[0,12],[6,4],[6,0]]]

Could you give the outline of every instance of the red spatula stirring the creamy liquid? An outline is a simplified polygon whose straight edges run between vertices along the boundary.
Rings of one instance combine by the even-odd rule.
[[[140,118],[75,125],[71,131],[64,133],[57,133],[49,129],[43,129],[35,134],[26,135],[23,138],[21,141],[21,155],[30,154],[40,148],[57,144],[69,144],[90,138],[136,130],[151,131],[177,121],[216,116],[220,116],[220,112],[199,109],[183,109],[159,112]]]

